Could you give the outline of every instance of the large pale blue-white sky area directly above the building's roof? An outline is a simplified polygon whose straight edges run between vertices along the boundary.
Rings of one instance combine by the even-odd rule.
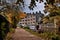
[[[36,5],[37,5],[37,7],[35,7],[34,8],[34,10],[30,10],[29,8],[28,8],[28,6],[29,6],[29,4],[30,4],[30,2],[31,2],[31,0],[29,0],[29,1],[27,1],[27,0],[24,0],[24,4],[25,4],[25,7],[23,8],[23,11],[24,12],[27,12],[27,13],[32,13],[32,12],[36,12],[36,11],[41,11],[42,13],[44,13],[43,12],[43,10],[44,10],[44,2],[46,2],[46,1],[44,1],[44,2],[42,2],[42,3],[39,3],[39,2],[36,2]]]

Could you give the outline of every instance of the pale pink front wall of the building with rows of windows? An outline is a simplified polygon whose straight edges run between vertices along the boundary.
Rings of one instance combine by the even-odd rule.
[[[36,24],[36,16],[35,14],[28,13],[24,19],[21,19],[19,22],[20,25],[35,25]]]

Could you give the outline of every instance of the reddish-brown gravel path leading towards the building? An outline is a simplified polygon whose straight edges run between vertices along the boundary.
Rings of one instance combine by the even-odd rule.
[[[13,34],[13,40],[43,40],[22,28],[17,28]]]

